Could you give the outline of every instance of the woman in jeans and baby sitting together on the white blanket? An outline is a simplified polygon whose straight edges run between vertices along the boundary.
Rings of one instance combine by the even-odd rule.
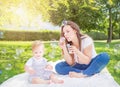
[[[82,34],[79,26],[72,21],[63,22],[59,46],[65,60],[55,65],[55,70],[60,75],[69,75],[71,78],[89,77],[99,73],[109,62],[108,54],[97,54],[92,38]],[[64,83],[64,80],[56,77],[52,66],[43,57],[44,45],[41,42],[34,41],[32,52],[33,57],[25,64],[31,83]]]

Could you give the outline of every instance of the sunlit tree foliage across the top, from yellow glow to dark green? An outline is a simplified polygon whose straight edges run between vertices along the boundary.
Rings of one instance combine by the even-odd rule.
[[[73,20],[86,32],[107,35],[111,27],[120,38],[119,0],[0,0],[0,27],[38,27],[41,15],[54,25]]]

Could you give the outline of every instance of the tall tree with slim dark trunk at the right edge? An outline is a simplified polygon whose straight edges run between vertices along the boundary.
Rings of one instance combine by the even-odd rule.
[[[104,29],[108,34],[107,43],[111,42],[113,33],[120,37],[120,2],[119,0],[96,0],[100,6]]]

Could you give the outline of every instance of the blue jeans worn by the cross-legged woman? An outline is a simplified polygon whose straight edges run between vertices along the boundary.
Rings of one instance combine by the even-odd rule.
[[[91,60],[88,65],[76,63],[74,66],[68,65],[66,62],[56,64],[56,72],[61,75],[67,75],[70,71],[83,73],[87,76],[99,73],[109,62],[109,55],[107,53],[100,53]]]

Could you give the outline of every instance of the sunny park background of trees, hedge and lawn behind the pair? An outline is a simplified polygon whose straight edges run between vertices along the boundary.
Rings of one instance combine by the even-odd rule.
[[[42,40],[48,61],[62,59],[62,21],[76,22],[90,35],[97,53],[108,52],[107,66],[120,84],[119,0],[0,0],[0,83],[24,72],[31,43]]]

